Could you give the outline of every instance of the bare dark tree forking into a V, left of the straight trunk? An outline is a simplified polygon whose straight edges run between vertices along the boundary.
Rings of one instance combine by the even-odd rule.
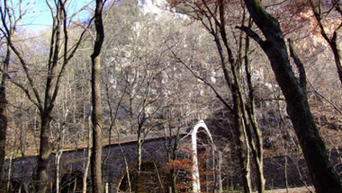
[[[40,153],[35,186],[37,192],[48,191],[49,155],[54,147],[49,135],[52,120],[51,112],[58,97],[60,82],[67,64],[74,57],[77,48],[79,48],[82,39],[85,37],[85,31],[83,31],[76,40],[76,43],[69,47],[66,1],[58,0],[54,4],[46,1],[46,4],[49,6],[53,23],[47,61],[46,83],[43,85],[43,94],[40,92],[40,85],[33,78],[29,68],[30,62],[25,58],[25,54],[19,50],[13,39],[7,35],[8,33],[5,34],[7,44],[19,59],[29,85],[26,86],[15,81],[11,81],[11,83],[17,85],[26,94],[27,98],[37,107],[40,113]],[[2,31],[10,30],[7,26],[4,26],[4,30]]]

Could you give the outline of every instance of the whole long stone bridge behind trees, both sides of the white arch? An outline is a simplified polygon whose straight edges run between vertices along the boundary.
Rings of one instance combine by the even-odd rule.
[[[212,129],[211,132],[213,132]],[[187,158],[192,162],[187,175],[193,176],[186,177],[188,179],[188,191],[199,192],[200,189],[203,189],[207,192],[214,190],[220,192],[218,190],[222,189],[222,186],[226,189],[240,187],[242,182],[237,167],[232,169],[236,170],[233,175],[217,172],[220,165],[227,164],[227,162],[221,163],[219,152],[222,147],[214,145],[211,132],[204,122],[200,121],[193,127],[148,132],[143,135],[139,192],[171,192],[172,178],[170,168],[167,167],[169,161],[167,151],[169,151],[170,146],[174,145],[175,141],[178,142],[178,158]],[[215,151],[216,148],[217,151]],[[204,187],[200,183],[199,165],[200,162],[203,163],[201,157],[198,156],[200,154],[205,154],[205,167],[215,171],[212,174],[206,174],[204,178],[206,181],[211,181],[211,184],[206,184]],[[339,151],[330,151],[330,157],[337,171],[342,171]],[[52,154],[49,161],[49,192],[57,192],[57,189],[61,193],[83,192],[82,189],[84,189],[85,184],[87,186],[86,192],[90,192],[90,169],[87,165],[88,148],[64,149],[63,154]],[[103,144],[103,185],[105,193],[129,192],[129,189],[134,192],[135,183],[137,183],[137,161],[136,135],[121,136],[120,138],[113,136],[111,143]],[[9,173],[9,165],[12,165],[11,171],[13,171],[10,180],[12,188],[9,192],[34,192],[32,189],[35,181],[32,177],[34,177],[36,170],[37,157],[33,155],[17,158],[11,162],[7,161],[6,173]],[[277,156],[266,158],[264,169],[266,189],[284,188],[286,185],[302,187],[311,184],[306,164],[301,157]],[[184,174],[186,171],[181,167],[181,172]],[[186,178],[183,176],[179,179],[184,182]],[[56,186],[57,183],[59,188]]]

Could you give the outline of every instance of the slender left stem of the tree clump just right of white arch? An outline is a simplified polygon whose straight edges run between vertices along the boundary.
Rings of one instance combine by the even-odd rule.
[[[226,19],[225,19],[225,5],[223,0],[219,0],[219,13],[220,13],[220,24],[218,28],[220,28],[220,38],[216,32],[215,42],[220,53],[221,58],[221,68],[223,70],[224,77],[226,79],[226,83],[230,87],[230,92],[233,98],[233,113],[235,117],[235,135],[237,138],[238,145],[238,160],[240,164],[240,169],[242,172],[242,180],[244,182],[244,191],[245,193],[252,192],[252,183],[250,180],[250,157],[249,157],[249,145],[247,140],[247,123],[244,122],[244,115],[246,115],[245,110],[245,101],[242,95],[242,89],[240,84],[240,75],[238,74],[238,68],[240,64],[238,60],[233,57],[233,52],[229,47],[229,40],[226,31]],[[214,33],[215,34],[215,33]],[[230,78],[228,68],[226,66],[226,59],[223,55],[223,48],[220,43],[220,39],[223,42],[224,50],[226,57],[228,58],[228,62],[230,65],[230,70],[233,75],[233,79]],[[240,50],[239,50],[240,52]],[[240,54],[240,53],[239,53]],[[245,118],[246,119],[246,118]]]

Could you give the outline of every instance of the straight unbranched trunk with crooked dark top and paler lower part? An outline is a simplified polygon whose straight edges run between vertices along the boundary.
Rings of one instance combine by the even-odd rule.
[[[94,22],[96,28],[96,39],[94,52],[92,54],[92,123],[93,123],[93,151],[91,156],[92,186],[93,193],[103,193],[102,180],[102,150],[103,150],[103,120],[101,105],[101,48],[103,45],[103,1],[96,0]]]

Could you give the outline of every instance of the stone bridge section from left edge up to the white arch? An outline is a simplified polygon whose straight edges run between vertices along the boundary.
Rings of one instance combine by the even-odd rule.
[[[168,131],[148,132],[143,135],[142,164],[139,178],[139,192],[166,192],[170,186],[169,172],[167,166],[166,145],[173,145],[177,137],[179,154],[189,156],[188,152],[182,149],[191,149],[193,154],[189,159],[198,164],[197,149],[201,144],[200,137],[207,137],[212,142],[211,134],[204,122],[200,121],[194,127],[184,127]],[[208,140],[204,140],[208,142]],[[194,143],[193,143],[194,142]],[[212,144],[211,144],[212,145]],[[51,192],[82,192],[87,170],[88,148],[65,149],[62,154],[51,154],[49,158],[49,189]],[[194,157],[193,157],[194,156]],[[33,191],[34,173],[37,167],[37,156],[28,156],[14,159],[11,162],[12,168],[12,192]],[[135,166],[138,161],[137,136],[113,136],[110,145],[103,145],[103,184],[106,192],[124,192],[131,188],[134,191],[137,171]],[[10,162],[6,162],[6,171],[9,170]],[[58,167],[59,166],[59,167]],[[199,189],[199,171],[193,168],[194,175],[198,180],[194,180],[193,188]],[[59,188],[56,186],[57,176]],[[87,171],[86,183],[88,191],[90,189],[90,169]],[[130,186],[130,187],[129,187]]]

